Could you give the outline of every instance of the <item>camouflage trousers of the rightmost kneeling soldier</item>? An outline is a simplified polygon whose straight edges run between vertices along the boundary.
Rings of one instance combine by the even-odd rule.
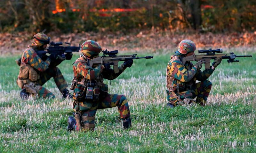
[[[192,87],[192,90],[182,91],[180,92],[180,99],[183,100],[184,98],[196,98],[196,103],[204,106],[207,97],[209,96],[209,93],[212,89],[212,83],[208,80],[198,82],[194,87]],[[177,94],[177,92],[175,92]],[[177,106],[179,100],[175,98],[174,95],[172,95],[172,92],[166,90],[167,94],[167,101],[169,101],[172,105]],[[178,94],[177,94],[178,95]]]

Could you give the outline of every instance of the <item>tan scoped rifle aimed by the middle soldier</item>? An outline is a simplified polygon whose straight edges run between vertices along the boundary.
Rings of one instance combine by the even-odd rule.
[[[109,65],[113,65],[113,69],[115,73],[119,72],[118,69],[118,62],[119,61],[125,61],[129,59],[150,59],[153,58],[153,56],[145,56],[145,57],[136,57],[137,54],[132,54],[132,55],[116,55],[118,53],[118,50],[114,51],[108,51],[107,49],[103,51],[103,55],[100,57],[93,58],[88,61],[89,66],[92,67],[94,64],[103,64],[103,63],[108,63]],[[108,55],[108,56],[106,56]]]

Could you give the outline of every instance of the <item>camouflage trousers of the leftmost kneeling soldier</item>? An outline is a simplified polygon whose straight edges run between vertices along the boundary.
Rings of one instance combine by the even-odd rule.
[[[42,85],[44,85],[48,80],[51,78],[54,79],[55,84],[59,88],[60,92],[67,88],[67,82],[64,79],[62,73],[60,72],[60,69],[58,67],[50,67],[46,69],[44,72],[41,72],[40,79],[36,81],[36,85],[38,86],[37,96],[38,97],[52,97],[55,98],[53,93],[46,88],[44,88]]]

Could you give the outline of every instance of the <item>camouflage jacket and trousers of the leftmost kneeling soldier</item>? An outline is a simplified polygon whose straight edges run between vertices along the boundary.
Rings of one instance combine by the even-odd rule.
[[[60,92],[67,90],[67,82],[61,74],[60,69],[56,67],[62,60],[57,59],[51,62],[51,59],[46,56],[46,60],[43,61],[37,55],[37,50],[39,50],[39,47],[35,43],[32,43],[32,45],[23,52],[17,84],[20,88],[26,89],[26,92],[32,95],[44,98],[55,98],[52,92],[42,85],[53,77]]]

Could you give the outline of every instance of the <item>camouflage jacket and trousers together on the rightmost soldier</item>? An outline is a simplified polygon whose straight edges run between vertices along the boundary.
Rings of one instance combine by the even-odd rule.
[[[196,102],[204,105],[212,87],[211,82],[207,79],[214,70],[205,69],[204,71],[197,71],[193,63],[186,62],[183,64],[181,57],[182,55],[176,51],[175,55],[171,56],[171,60],[167,65],[167,101],[174,106],[177,105],[178,99],[172,95],[172,91],[178,95],[177,88],[179,85],[181,100],[186,97],[195,98],[197,96]],[[201,82],[196,83],[196,80]]]

